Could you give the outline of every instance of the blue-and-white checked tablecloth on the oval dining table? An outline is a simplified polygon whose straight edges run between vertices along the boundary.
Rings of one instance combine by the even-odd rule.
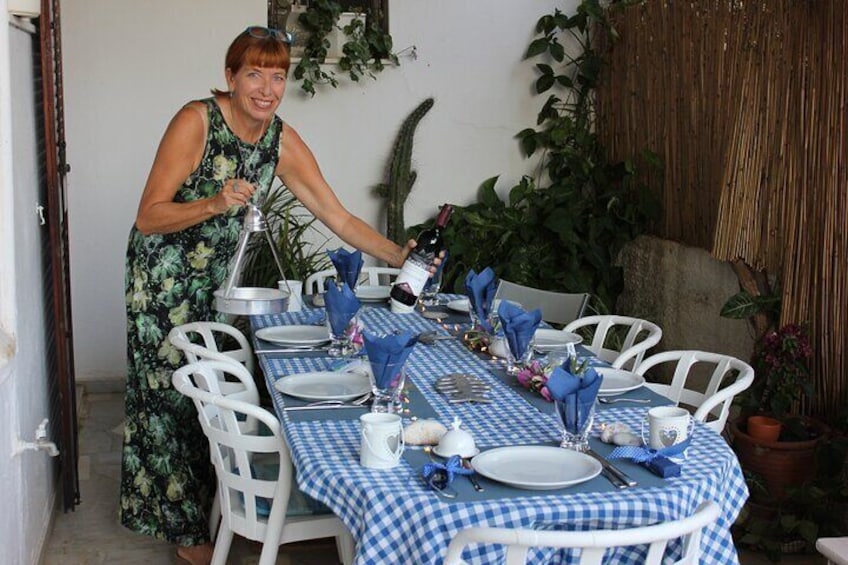
[[[467,329],[468,315],[445,308],[460,298],[442,295],[438,305],[427,309],[428,317],[420,310],[396,314],[384,303],[364,303],[359,311],[358,320],[367,332],[436,331],[454,336],[430,345],[418,343],[407,359],[404,424],[432,419],[450,428],[458,420],[482,453],[508,446],[559,446],[561,431],[553,404],[518,384],[504,370],[502,359],[473,351],[462,339],[463,332],[458,330]],[[617,488],[598,475],[579,484],[536,490],[478,474],[482,492],[466,477],[456,476],[450,486],[457,496],[447,499],[422,479],[422,469],[432,455],[421,446],[407,445],[400,463],[390,469],[360,465],[359,417],[368,412],[367,406],[293,410],[306,400],[282,394],[275,386],[293,375],[344,370],[357,362],[356,358],[328,357],[320,348],[287,349],[256,335],[264,328],[321,324],[322,308],[312,307],[307,297],[300,312],[254,315],[250,323],[260,367],[291,450],[297,484],[344,522],[356,542],[357,564],[439,564],[454,535],[473,526],[568,531],[633,528],[683,518],[705,500],[716,502],[721,514],[701,538],[701,561],[738,563],[730,527],[748,490],[739,462],[724,438],[699,422],[692,427],[689,447],[677,459],[679,476],[660,478],[628,459],[615,459],[615,466],[636,486]],[[606,365],[581,346],[577,353],[591,365]],[[367,363],[362,357],[358,361]],[[434,382],[453,373],[484,381],[490,387],[489,402],[451,402]],[[590,445],[602,458],[615,447],[600,440],[604,426],[625,425],[640,434],[647,410],[670,403],[644,386],[612,398],[645,402],[598,405]],[[679,557],[680,545],[669,545],[667,562]],[[616,548],[608,552],[607,562],[641,563],[645,555],[645,546]],[[463,559],[470,564],[500,562],[503,548],[472,545]],[[570,550],[532,548],[528,554],[528,563],[575,561]]]

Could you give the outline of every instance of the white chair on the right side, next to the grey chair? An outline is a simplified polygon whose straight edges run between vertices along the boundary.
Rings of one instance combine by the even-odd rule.
[[[579,329],[595,326],[592,342],[586,346],[592,353],[611,363],[616,369],[638,367],[645,352],[660,342],[662,330],[653,322],[629,316],[586,316],[574,320],[565,331],[576,332]],[[627,335],[620,347],[611,343],[612,328],[628,328]],[[613,330],[613,334],[615,330]]]

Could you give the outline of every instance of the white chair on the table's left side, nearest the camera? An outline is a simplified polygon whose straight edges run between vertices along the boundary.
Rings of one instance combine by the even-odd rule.
[[[234,534],[262,542],[260,565],[275,563],[281,544],[325,537],[335,537],[340,560],[351,563],[353,538],[341,520],[332,513],[303,515],[316,510],[306,505],[294,512],[293,497],[303,495],[292,486],[291,455],[277,417],[259,406],[204,390],[217,386],[220,372],[250,378],[247,369],[229,361],[199,361],[172,377],[174,388],[194,401],[218,478],[222,519],[213,565],[226,563]],[[259,433],[254,422],[270,435]]]

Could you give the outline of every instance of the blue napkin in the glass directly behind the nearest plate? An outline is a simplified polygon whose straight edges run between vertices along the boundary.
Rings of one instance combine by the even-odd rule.
[[[554,399],[557,417],[568,432],[576,434],[580,433],[592,413],[592,405],[604,378],[591,367],[583,371],[582,376],[572,374],[567,363],[553,370],[547,386]]]

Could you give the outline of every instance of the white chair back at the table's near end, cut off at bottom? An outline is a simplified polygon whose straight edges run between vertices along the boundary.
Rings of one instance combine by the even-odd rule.
[[[462,550],[472,543],[505,545],[506,565],[523,565],[531,547],[574,548],[580,550],[577,563],[600,565],[609,548],[649,544],[648,555],[641,564],[659,564],[671,540],[683,538],[682,557],[675,565],[697,565],[701,534],[715,522],[720,509],[708,500],[694,514],[680,520],[622,530],[546,531],[507,528],[467,528],[460,530],[448,546],[444,565],[461,565]]]

